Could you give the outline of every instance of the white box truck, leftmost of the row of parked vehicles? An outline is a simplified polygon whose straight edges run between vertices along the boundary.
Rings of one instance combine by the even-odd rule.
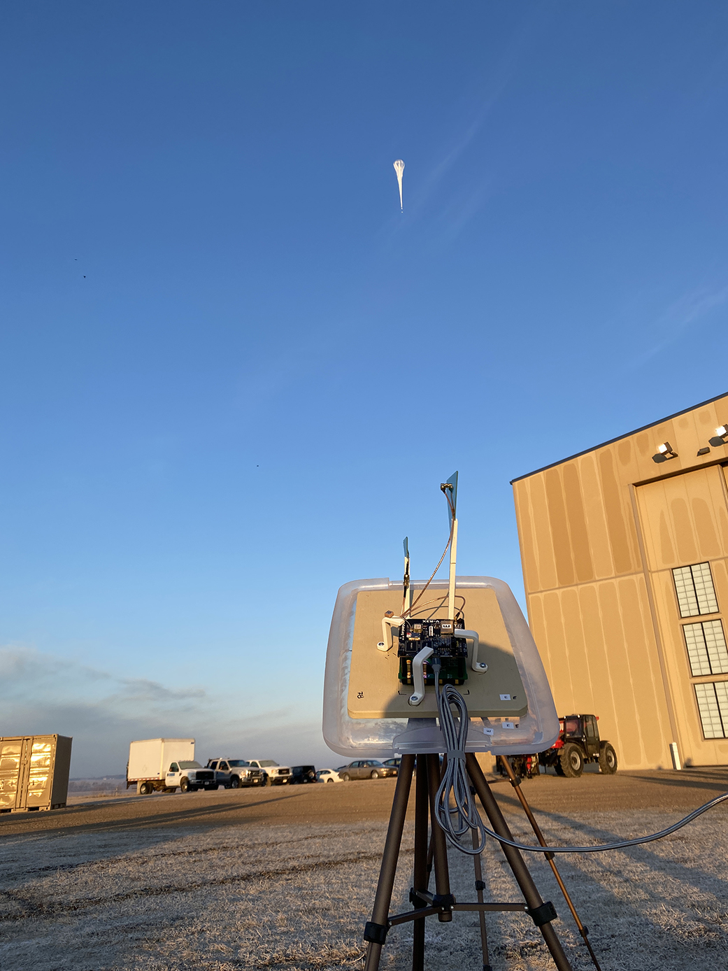
[[[126,764],[126,787],[136,783],[140,795],[216,788],[215,772],[195,761],[193,738],[147,738],[132,742]]]

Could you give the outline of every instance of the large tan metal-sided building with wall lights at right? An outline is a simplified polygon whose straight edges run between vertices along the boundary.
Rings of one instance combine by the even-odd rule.
[[[622,768],[728,763],[727,474],[722,394],[513,480],[557,711]]]

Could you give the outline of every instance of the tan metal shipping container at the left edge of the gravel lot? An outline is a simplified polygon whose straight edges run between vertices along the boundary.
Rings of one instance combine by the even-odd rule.
[[[66,735],[0,738],[0,813],[62,809],[72,741]]]

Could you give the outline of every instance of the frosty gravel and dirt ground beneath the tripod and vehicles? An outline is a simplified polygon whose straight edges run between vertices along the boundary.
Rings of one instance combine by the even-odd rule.
[[[0,817],[0,966],[27,971],[361,971],[394,781],[89,800]],[[493,789],[531,842],[511,786]],[[663,828],[728,789],[727,769],[542,776],[523,789],[548,839],[607,842]],[[709,971],[728,953],[728,810],[611,854],[561,856],[603,971]],[[470,857],[449,853],[452,888],[474,900]],[[546,862],[529,857],[575,971],[590,967]],[[408,822],[392,911],[409,910]],[[519,900],[499,848],[483,854],[486,899]],[[487,919],[494,971],[553,967],[526,917]],[[481,965],[478,919],[427,922],[428,969]],[[382,969],[410,966],[411,925]]]

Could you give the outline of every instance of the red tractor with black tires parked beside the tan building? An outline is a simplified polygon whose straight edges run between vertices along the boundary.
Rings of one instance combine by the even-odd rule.
[[[552,765],[557,776],[576,779],[583,772],[584,762],[598,762],[599,771],[612,776],[616,772],[616,753],[612,743],[600,739],[598,720],[598,715],[567,715],[559,719],[561,731],[551,748],[538,755],[514,755],[513,771],[521,779],[531,779],[532,774],[538,775],[539,764]]]

